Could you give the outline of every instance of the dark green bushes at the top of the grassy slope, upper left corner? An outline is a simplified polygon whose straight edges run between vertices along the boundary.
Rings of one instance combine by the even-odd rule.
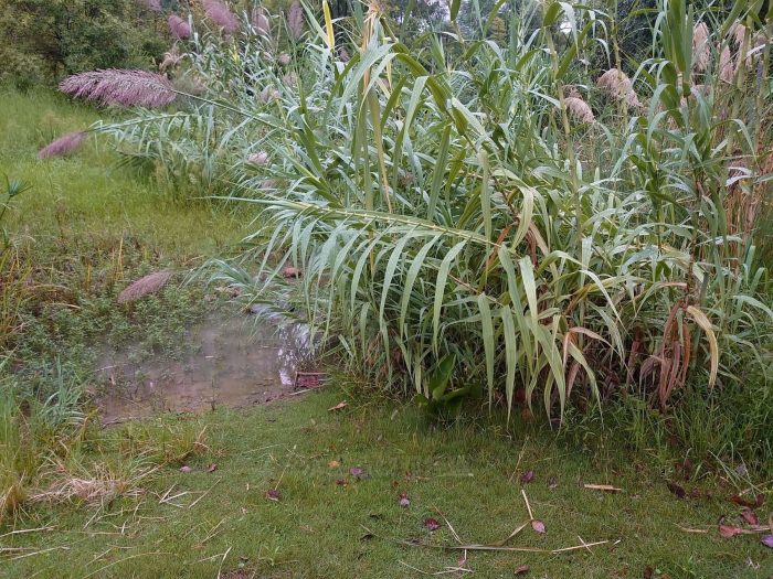
[[[152,67],[165,35],[159,15],[136,0],[6,0],[0,81],[29,87],[95,68]]]

